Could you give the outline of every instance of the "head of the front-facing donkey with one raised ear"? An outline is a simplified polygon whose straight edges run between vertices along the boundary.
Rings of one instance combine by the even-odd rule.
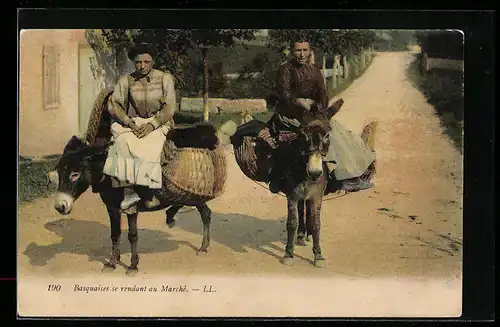
[[[298,142],[303,162],[307,165],[307,174],[313,180],[323,173],[323,158],[330,146],[330,119],[339,111],[344,101],[333,103],[325,110],[316,107],[303,117]]]

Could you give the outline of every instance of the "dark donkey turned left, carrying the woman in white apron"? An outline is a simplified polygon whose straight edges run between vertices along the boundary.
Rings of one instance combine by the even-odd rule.
[[[103,167],[107,157],[108,141],[109,141],[109,115],[106,110],[102,110],[110,93],[101,94],[96,101],[97,109],[101,110],[98,117],[98,125],[96,128],[95,139],[91,145],[88,143],[88,138],[82,140],[73,136],[65,146],[63,154],[56,166],[56,171],[49,173],[49,179],[53,183],[58,184],[58,191],[55,196],[55,209],[63,214],[70,213],[74,202],[79,196],[85,192],[90,186],[94,193],[99,193],[102,201],[106,205],[110,223],[111,223],[111,241],[112,251],[109,262],[104,268],[114,269],[120,262],[120,236],[121,236],[121,209],[120,202],[123,200],[123,189],[114,188],[111,186],[111,180],[107,175],[103,174]],[[94,113],[96,106],[94,106]],[[95,117],[94,117],[95,118]],[[92,119],[91,119],[92,120]],[[90,130],[90,125],[89,125]],[[199,148],[214,148],[218,142],[215,134],[215,129],[212,126],[200,125],[187,129],[174,129],[167,135],[167,138],[174,139],[174,143],[178,146],[191,146]],[[203,241],[197,254],[207,252],[210,245],[210,221],[211,210],[208,208],[206,201],[197,198],[192,200],[179,201],[169,197],[168,192],[162,189],[156,194],[161,204],[158,207],[148,209],[144,205],[138,205],[138,212],[166,210],[167,225],[173,227],[175,214],[185,205],[195,206],[203,221]],[[137,254],[137,211],[135,213],[127,213],[128,218],[128,240],[131,246],[131,265],[127,270],[127,274],[137,272],[139,264],[139,255]]]

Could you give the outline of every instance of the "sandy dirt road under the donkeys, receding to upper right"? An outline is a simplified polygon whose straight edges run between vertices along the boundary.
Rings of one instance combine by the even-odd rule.
[[[442,133],[424,96],[406,79],[409,53],[378,54],[365,74],[340,96],[337,119],[361,133],[371,120],[376,134],[375,188],[328,195],[322,209],[323,269],[312,249],[296,247],[292,266],[279,262],[285,242],[286,201],[246,178],[229,156],[225,194],[211,203],[212,245],[197,257],[202,224],[196,211],[179,215],[174,229],[162,212],[139,217],[139,276],[268,275],[322,277],[406,276],[461,278],[462,158]],[[122,261],[130,262],[126,218]],[[98,196],[87,191],[68,217],[52,199],[19,209],[21,276],[100,276],[110,252],[109,220]],[[113,274],[123,275],[126,267]]]

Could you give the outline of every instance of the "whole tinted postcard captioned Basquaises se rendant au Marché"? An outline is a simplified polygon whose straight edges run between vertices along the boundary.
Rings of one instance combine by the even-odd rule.
[[[459,317],[463,44],[20,30],[19,316]]]

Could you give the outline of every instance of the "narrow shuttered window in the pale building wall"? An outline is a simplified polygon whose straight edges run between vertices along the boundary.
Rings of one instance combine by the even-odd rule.
[[[59,48],[43,47],[43,104],[46,110],[59,107]]]

